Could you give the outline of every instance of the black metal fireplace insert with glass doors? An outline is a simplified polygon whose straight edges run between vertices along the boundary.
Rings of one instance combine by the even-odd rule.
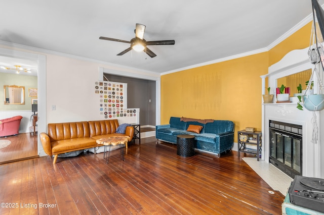
[[[302,175],[302,135],[301,125],[269,121],[269,162],[291,178]]]

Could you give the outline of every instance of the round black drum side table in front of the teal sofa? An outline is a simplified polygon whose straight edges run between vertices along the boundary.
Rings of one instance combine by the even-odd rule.
[[[194,136],[178,135],[177,136],[177,154],[184,157],[194,155]]]

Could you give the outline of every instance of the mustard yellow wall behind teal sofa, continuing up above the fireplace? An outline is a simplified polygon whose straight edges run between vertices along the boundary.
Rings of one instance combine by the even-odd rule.
[[[230,120],[235,142],[239,130],[261,130],[260,76],[291,50],[307,47],[310,31],[311,23],[267,52],[161,76],[161,124],[172,116]]]

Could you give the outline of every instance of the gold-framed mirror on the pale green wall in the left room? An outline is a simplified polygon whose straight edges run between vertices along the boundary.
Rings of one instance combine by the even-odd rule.
[[[25,104],[25,87],[4,85],[5,104]]]

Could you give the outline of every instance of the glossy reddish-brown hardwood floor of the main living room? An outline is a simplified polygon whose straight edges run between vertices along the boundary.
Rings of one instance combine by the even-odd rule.
[[[1,214],[281,214],[273,191],[235,151],[181,157],[155,137],[111,151],[0,165]],[[9,206],[8,205],[8,206]]]

